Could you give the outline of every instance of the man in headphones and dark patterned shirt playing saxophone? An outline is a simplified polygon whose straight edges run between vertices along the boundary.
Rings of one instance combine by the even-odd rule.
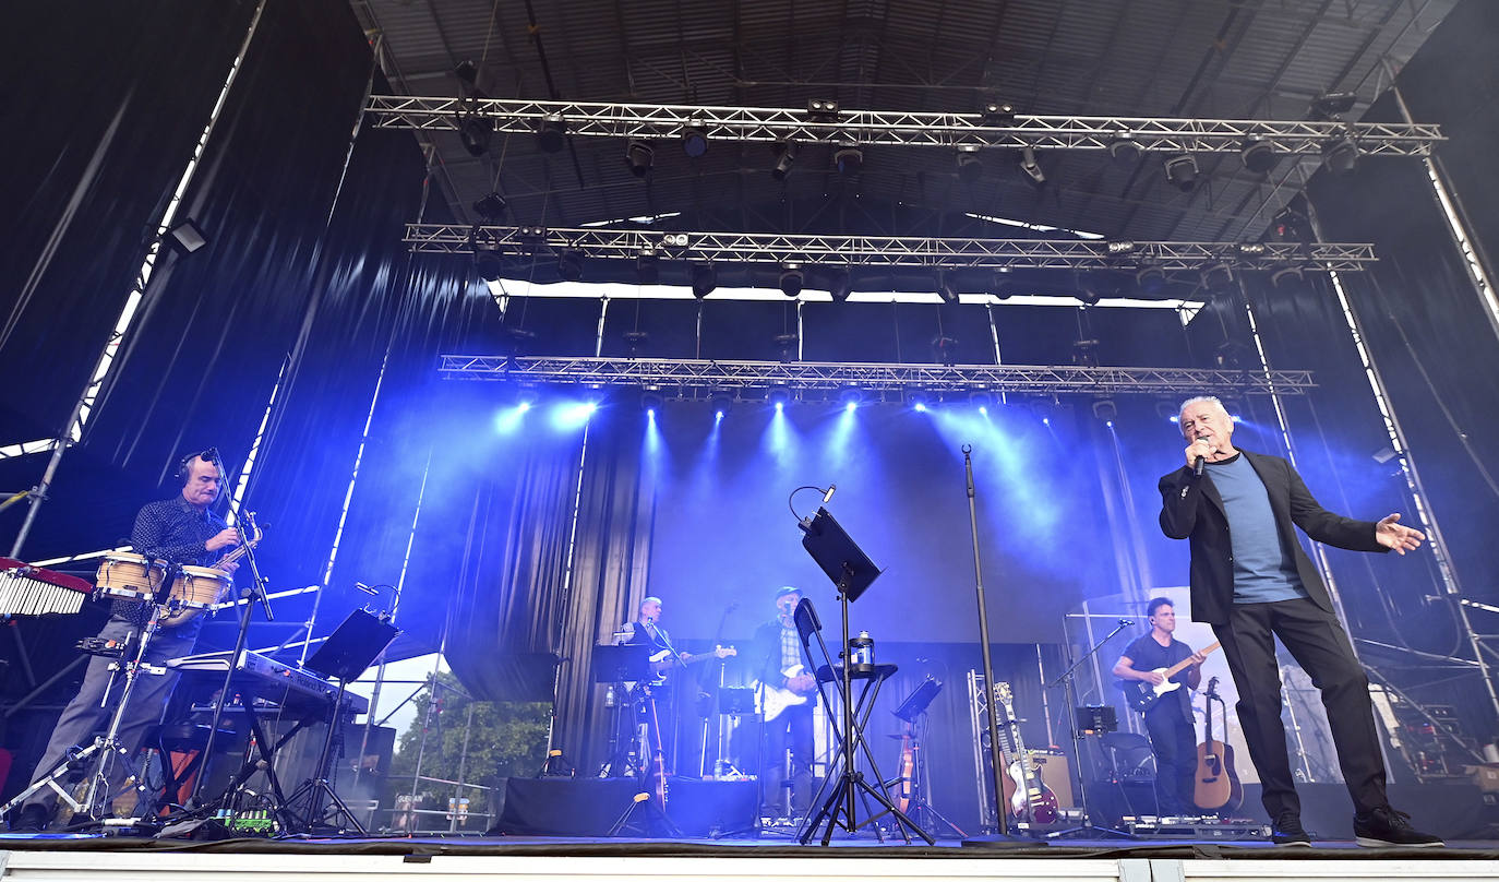
[[[223,477],[210,459],[201,453],[190,453],[178,464],[177,480],[181,482],[181,490],[177,495],[148,502],[139,510],[130,531],[130,544],[138,554],[148,558],[211,567],[232,574],[237,564],[222,562],[222,558],[238,544],[238,534],[211,510],[213,502],[223,492]],[[99,638],[120,644],[133,642],[147,624],[147,609],[148,606],[141,602],[115,600],[109,621],[99,632]],[[157,628],[144,662],[162,666],[168,658],[190,654],[198,642],[202,618],[201,615],[192,616],[190,621],[177,627]],[[66,759],[69,748],[93,742],[94,735],[108,726],[108,720],[115,711],[112,702],[111,705],[103,704],[112,663],[114,658],[99,656],[88,660],[82,687],[58,717],[57,726],[48,738],[46,750],[42,752],[40,760],[31,771],[31,783],[51,774]],[[175,684],[175,672],[141,674],[136,678],[135,692],[120,720],[118,732],[120,744],[132,758],[139,753],[145,732],[160,722]],[[117,686],[115,690],[111,690],[111,694],[115,694],[118,688]],[[111,780],[111,794],[118,792],[121,786],[121,764],[114,764],[112,771],[115,774]],[[55,792],[51,788],[42,788],[10,819],[12,830],[43,830],[52,818],[55,801]]]

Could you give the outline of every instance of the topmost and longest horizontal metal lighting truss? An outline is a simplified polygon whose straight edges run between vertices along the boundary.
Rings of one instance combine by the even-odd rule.
[[[711,140],[890,144],[923,147],[1064,147],[1106,150],[1120,138],[1166,153],[1237,153],[1247,138],[1279,153],[1316,154],[1333,140],[1352,136],[1360,150],[1384,156],[1427,156],[1445,141],[1436,124],[1277,120],[1193,120],[1175,117],[1060,117],[941,114],[850,110],[812,117],[806,110],[588,104],[565,100],[457,99],[372,94],[367,118],[384,129],[459,128],[459,114],[490,120],[499,132],[535,132],[561,117],[568,135],[594,138],[676,138],[694,126]]]

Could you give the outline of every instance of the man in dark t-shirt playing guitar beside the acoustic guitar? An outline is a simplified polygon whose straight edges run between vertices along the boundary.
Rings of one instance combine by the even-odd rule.
[[[1156,754],[1156,801],[1162,814],[1196,814],[1193,812],[1193,771],[1196,770],[1198,730],[1192,723],[1192,698],[1189,690],[1202,681],[1202,652],[1172,636],[1177,630],[1177,612],[1166,597],[1156,597],[1147,608],[1150,633],[1124,646],[1124,654],[1114,663],[1114,676],[1123,681],[1138,680],[1150,686],[1163,682],[1157,672],[1190,660],[1186,669],[1172,681],[1186,688],[1177,688],[1160,696],[1145,711],[1145,730],[1150,734],[1150,748]]]

